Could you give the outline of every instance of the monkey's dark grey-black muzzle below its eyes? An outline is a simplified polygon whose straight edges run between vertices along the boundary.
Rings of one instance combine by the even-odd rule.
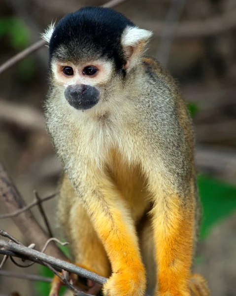
[[[65,90],[65,98],[70,106],[77,110],[88,110],[99,102],[99,90],[90,85],[69,85]]]

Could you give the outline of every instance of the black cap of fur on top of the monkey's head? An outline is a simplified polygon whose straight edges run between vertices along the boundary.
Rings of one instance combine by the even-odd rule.
[[[78,62],[106,57],[121,69],[125,64],[121,35],[127,26],[135,25],[113,9],[81,8],[56,25],[49,43],[50,59]]]

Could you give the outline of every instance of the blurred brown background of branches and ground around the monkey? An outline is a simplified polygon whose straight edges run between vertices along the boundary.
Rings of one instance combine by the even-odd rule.
[[[59,20],[85,5],[103,3],[0,0],[0,64],[37,41],[51,20]],[[200,172],[235,184],[236,0],[176,0],[174,4],[173,0],[129,0],[116,10],[136,25],[153,30],[148,54],[166,64],[178,79],[191,109],[197,111],[194,122]],[[173,23],[173,37],[168,37],[167,23]],[[0,159],[30,202],[33,189],[40,196],[55,192],[61,170],[42,117],[47,91],[47,48],[0,74],[0,89]],[[47,201],[44,208],[54,236],[62,237],[55,218],[56,198]],[[33,212],[42,222],[37,210]],[[0,213],[4,213],[2,206]],[[10,219],[0,220],[0,227],[24,243]],[[236,215],[215,225],[201,243],[199,254],[204,261],[196,269],[209,281],[212,295],[236,296]],[[9,260],[4,269],[37,271],[35,265],[23,270]],[[0,296],[13,291],[22,296],[37,295],[33,283],[0,276]]]

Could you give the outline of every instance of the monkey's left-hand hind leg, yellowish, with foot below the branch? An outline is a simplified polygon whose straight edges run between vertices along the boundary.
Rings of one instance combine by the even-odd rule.
[[[66,176],[61,186],[58,212],[67,240],[70,243],[75,264],[108,277],[110,275],[110,263],[104,247]],[[71,279],[75,281],[76,277],[72,276]],[[58,295],[62,285],[61,280],[55,276],[50,296]],[[101,289],[101,285],[91,280],[87,280],[87,286],[89,287],[87,293],[92,295],[96,295]]]

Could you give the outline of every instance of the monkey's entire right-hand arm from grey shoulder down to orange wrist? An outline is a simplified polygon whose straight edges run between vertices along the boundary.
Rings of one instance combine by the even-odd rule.
[[[148,104],[143,102],[144,114],[140,113],[139,124],[146,122],[140,128],[146,140],[140,157],[145,159],[154,203],[156,295],[190,296],[188,283],[198,228],[192,122],[174,79],[156,61],[143,62],[152,92]]]

